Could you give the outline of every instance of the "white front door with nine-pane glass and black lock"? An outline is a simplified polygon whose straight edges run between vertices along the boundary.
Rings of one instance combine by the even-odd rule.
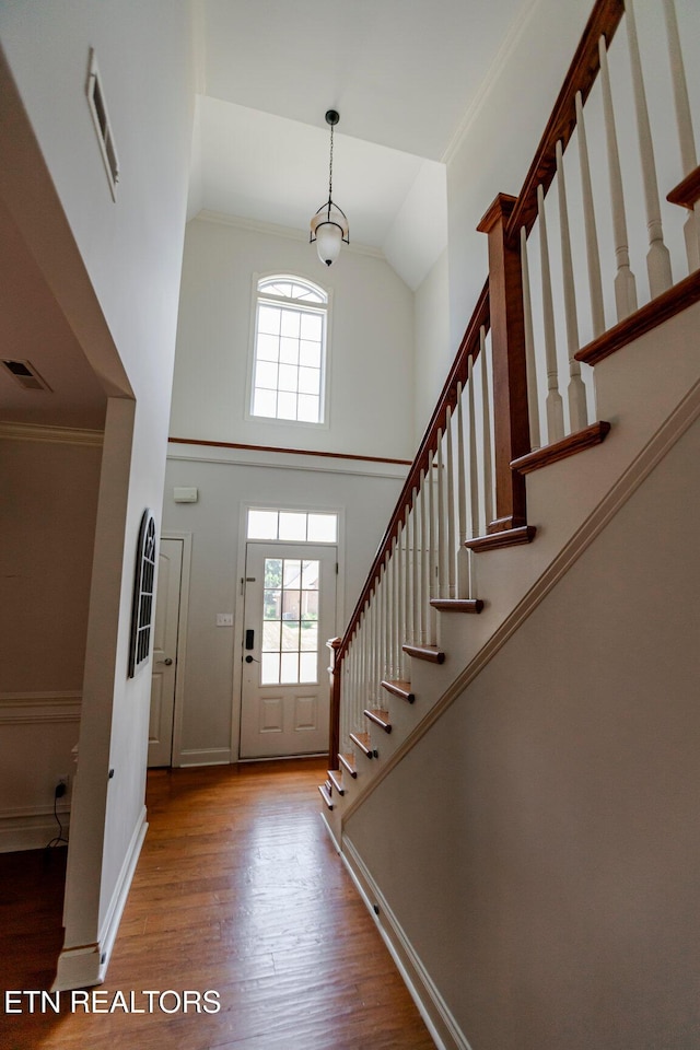
[[[241,758],[328,748],[336,559],[335,547],[247,545]]]

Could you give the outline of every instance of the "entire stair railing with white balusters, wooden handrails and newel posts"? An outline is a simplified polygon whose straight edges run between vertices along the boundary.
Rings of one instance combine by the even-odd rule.
[[[351,749],[350,734],[363,724],[364,710],[384,707],[382,682],[408,685],[406,646],[436,657],[438,611],[455,603],[479,604],[475,555],[533,538],[524,475],[607,433],[607,423],[590,422],[595,392],[586,362],[700,300],[700,168],[682,33],[674,0],[662,2],[684,176],[667,199],[688,212],[684,237],[690,276],[673,282],[633,0],[597,0],[521,194],[499,195],[478,226],[489,238],[487,283],[346,633],[334,643],[331,761],[339,749]],[[627,59],[618,61],[621,72],[611,78],[608,57],[622,21]],[[616,47],[620,58],[619,40]],[[660,54],[655,48],[656,65]],[[652,302],[642,310],[628,246],[630,176],[625,173],[632,162],[618,145],[614,101],[625,90],[625,77],[638,129],[635,177],[649,240]],[[584,114],[590,100],[592,124]],[[667,138],[667,113],[663,122]],[[574,185],[575,199],[568,192]],[[548,199],[552,186],[556,210]]]

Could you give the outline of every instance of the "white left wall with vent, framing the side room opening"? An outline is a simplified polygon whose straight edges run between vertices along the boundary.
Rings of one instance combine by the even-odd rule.
[[[22,116],[11,132],[16,160],[3,175],[3,192],[113,395],[58,977],[63,987],[94,983],[104,971],[100,960],[110,950],[143,829],[150,676],[144,670],[127,680],[127,642],[139,522],[144,506],[158,510],[162,500],[191,131],[188,16],[184,0],[67,0],[60,7],[39,0],[3,5],[0,21],[43,154]],[[85,100],[91,47],[121,168],[116,202]]]

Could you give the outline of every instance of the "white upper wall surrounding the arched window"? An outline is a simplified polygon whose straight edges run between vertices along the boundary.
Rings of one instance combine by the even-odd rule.
[[[332,291],[329,427],[245,420],[254,273]],[[411,458],[411,291],[383,259],[330,269],[303,241],[195,219],[187,225],[171,436]]]

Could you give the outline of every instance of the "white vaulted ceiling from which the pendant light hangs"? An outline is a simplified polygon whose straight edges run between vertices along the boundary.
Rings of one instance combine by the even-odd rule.
[[[327,198],[416,288],[446,243],[444,161],[533,0],[198,0],[189,214],[306,236]]]

